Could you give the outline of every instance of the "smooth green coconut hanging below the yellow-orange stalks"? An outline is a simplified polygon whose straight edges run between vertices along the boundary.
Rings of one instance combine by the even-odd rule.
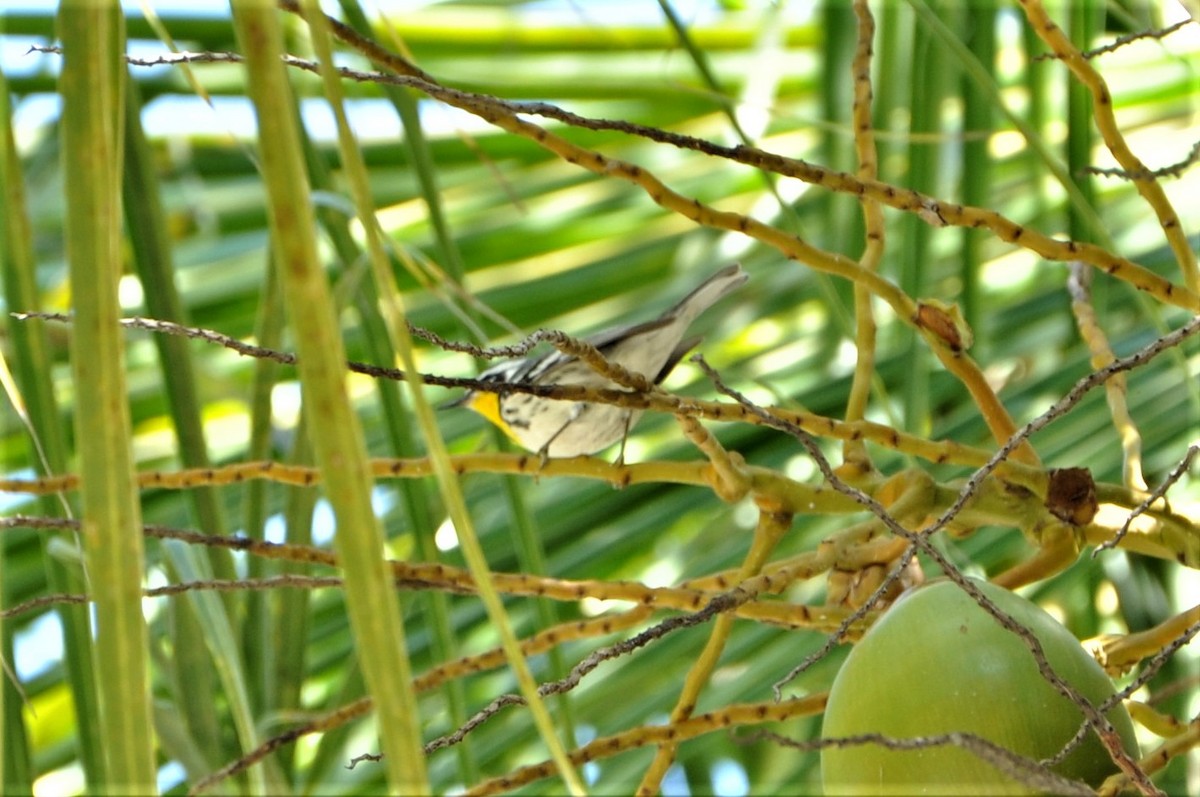
[[[1112,682],[1079,641],[1025,598],[972,580],[1003,612],[1030,629],[1063,681],[1093,706]],[[1136,757],[1124,707],[1106,714]],[[1026,643],[962,589],[938,580],[906,593],[854,646],[829,691],[822,736],[881,733],[898,739],[966,732],[1019,755],[1055,756],[1084,721],[1082,712],[1038,671]],[[1099,785],[1116,766],[1094,732],[1051,767]],[[954,745],[893,750],[878,744],[821,753],[828,795],[1027,795],[1038,789]]]

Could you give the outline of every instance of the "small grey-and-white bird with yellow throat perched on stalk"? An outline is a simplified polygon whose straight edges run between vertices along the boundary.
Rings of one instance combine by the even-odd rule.
[[[691,322],[746,278],[740,265],[726,266],[654,320],[608,329],[584,340],[610,362],[659,384],[683,355],[700,343],[700,337],[683,337]],[[623,389],[586,362],[557,349],[541,356],[506,360],[487,368],[479,378],[499,384]],[[480,390],[468,391],[450,406],[474,409],[503,429],[518,445],[542,457],[587,456],[617,441],[624,442],[625,435],[642,415],[640,409],[610,405]]]

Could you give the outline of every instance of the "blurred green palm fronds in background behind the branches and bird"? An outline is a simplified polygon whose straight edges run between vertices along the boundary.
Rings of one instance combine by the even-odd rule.
[[[338,13],[350,5],[334,4],[330,10]],[[1085,47],[1160,28],[1182,13],[1170,2],[1134,0],[1048,6]],[[882,180],[991,208],[1048,234],[1100,244],[1178,282],[1162,230],[1133,188],[1084,172],[1090,164],[1112,166],[1111,160],[1098,145],[1087,101],[1064,67],[1031,60],[1044,48],[1018,8],[984,0],[912,0],[872,4],[872,8],[878,24],[874,119]],[[157,11],[158,24],[179,49],[236,49],[228,12],[220,5],[163,5]],[[752,143],[834,169],[852,172],[857,166],[848,125],[856,36],[848,2],[408,2],[380,4],[366,13],[379,24],[380,42],[406,48],[421,68],[450,86],[552,102],[588,116],[625,119],[721,144]],[[290,16],[286,24],[289,50],[311,56],[302,24]],[[37,302],[13,304],[20,294],[14,293],[8,270],[6,311],[72,306],[62,244],[70,175],[60,166],[61,60],[28,52],[34,44],[52,44],[53,26],[54,10],[46,6],[0,12],[0,67],[18,156],[10,163],[18,168],[6,169],[4,178],[24,186],[24,206],[7,204],[6,218],[29,220]],[[143,13],[131,8],[128,53],[154,58],[166,49]],[[1200,26],[1192,24],[1096,60],[1112,89],[1122,130],[1151,168],[1183,161],[1195,144],[1198,54]],[[367,66],[350,54],[344,62]],[[290,332],[268,276],[265,199],[244,67],[133,66],[130,74],[136,112],[130,132],[140,126],[142,151],[149,155],[154,175],[148,181],[127,172],[126,203],[157,208],[161,216],[128,218],[130,270],[120,284],[126,314],[178,313],[179,320],[290,350]],[[338,179],[328,103],[314,76],[295,73],[293,79],[301,97],[296,110],[311,144],[312,199],[325,233],[322,253],[341,302],[349,355],[391,364],[360,256],[360,229],[347,217],[353,209]],[[842,414],[854,362],[853,305],[846,282],[786,262],[745,236],[698,228],[625,182],[600,179],[431,100],[403,91],[389,95],[358,83],[344,88],[415,324],[476,343],[514,342],[520,335],[512,330],[538,328],[584,334],[644,319],[710,271],[739,260],[751,275],[749,283],[720,312],[696,324],[706,336],[704,356],[730,385],[755,401]],[[546,126],[559,130],[554,122]],[[685,196],[752,215],[822,248],[852,258],[862,253],[862,215],[850,197],[620,133],[564,134],[654,172]],[[1195,245],[1200,172],[1193,168],[1164,185]],[[881,270],[910,295],[964,307],[976,334],[971,353],[1018,423],[1043,412],[1091,370],[1070,314],[1063,264],[982,232],[934,229],[895,211],[887,211],[886,221]],[[11,244],[16,224],[10,223],[7,232]],[[164,248],[154,248],[156,235]],[[146,265],[139,260],[146,252],[166,252],[167,259],[150,254],[152,263]],[[11,260],[11,246],[5,253]],[[439,277],[418,281],[408,264],[436,264],[461,278],[506,324],[480,319]],[[174,292],[164,284],[173,284]],[[173,293],[178,307],[170,306]],[[1118,355],[1187,318],[1183,311],[1099,276],[1094,299]],[[988,447],[986,429],[961,384],[941,370],[911,330],[887,310],[877,312],[877,380],[869,418],[935,439]],[[74,405],[88,400],[88,386],[71,383],[70,331],[37,326],[47,343],[44,359],[22,361],[22,349],[13,347],[16,324],[10,318],[4,322],[5,358],[23,385],[29,384],[30,371],[49,377],[53,403],[48,396],[30,395],[28,388],[25,398],[37,403],[46,413],[43,423],[60,432],[52,435],[58,439],[42,439],[50,466],[73,471],[77,442],[70,418]],[[174,471],[205,455],[216,463],[264,457],[305,462],[311,456],[298,425],[301,408],[293,368],[265,367],[194,341],[166,344],[145,332],[130,332],[127,347],[133,447],[140,469]],[[432,348],[422,348],[420,356],[422,370],[431,373],[472,376],[480,367],[467,355]],[[1193,341],[1129,377],[1129,406],[1142,435],[1151,484],[1198,439],[1198,358],[1200,347]],[[194,374],[196,395],[180,396],[181,374],[188,371]],[[397,411],[395,385],[366,378],[352,379],[350,385],[373,455],[419,451],[414,430]],[[682,365],[666,386],[714,396],[690,364]],[[443,401],[454,394],[430,389],[430,396]],[[181,420],[188,414],[191,420]],[[456,453],[498,444],[491,430],[464,411],[442,413],[439,421]],[[11,406],[2,424],[0,445],[8,478],[42,473],[30,436]],[[188,424],[202,435],[184,437],[178,430]],[[820,478],[786,436],[749,425],[712,429],[748,462],[804,481]],[[836,459],[840,444],[823,444]],[[1121,480],[1120,438],[1100,391],[1037,435],[1034,444],[1049,467],[1086,466],[1097,480]],[[871,454],[884,472],[914,465],[893,451],[872,448]],[[631,462],[698,456],[672,419],[653,415],[638,425],[626,448]],[[938,478],[965,473],[931,469]],[[479,474],[464,480],[464,490],[494,570],[544,571],[563,579],[667,585],[736,567],[755,519],[752,507],[726,505],[707,490],[671,485],[614,491],[584,480]],[[1195,502],[1200,485],[1184,477],[1171,496],[1175,502]],[[380,481],[374,499],[395,557],[427,559],[437,545],[444,561],[461,564],[452,535],[443,532],[434,539],[444,511],[432,484]],[[6,514],[62,513],[58,499],[5,495],[4,502]],[[317,490],[263,483],[211,491],[146,490],[142,507],[146,522],[277,541],[312,539],[328,546],[332,533],[328,505]],[[800,517],[776,556],[811,550],[847,522]],[[77,582],[78,555],[70,537],[6,531],[2,539],[5,606],[70,592]],[[1032,551],[1016,531],[1000,528],[940,545],[964,570],[979,575],[995,574]],[[194,552],[184,555],[152,540],[146,556],[149,586],[179,580],[185,562],[199,561],[217,575],[222,568],[241,576],[278,571],[274,563],[242,556],[197,559]],[[1196,585],[1195,573],[1180,565],[1110,552],[1096,561],[1081,557],[1027,594],[1087,639],[1162,622],[1196,601]],[[823,581],[817,579],[787,597],[820,603],[822,594]],[[474,598],[407,592],[403,605],[418,671],[444,660],[451,649],[464,654],[496,645]],[[222,657],[239,660],[248,706],[264,737],[298,717],[362,694],[340,591],[229,593],[223,606],[234,637],[226,647],[206,645],[214,631],[203,616],[192,613],[194,606],[181,598],[145,601],[161,789],[182,792],[188,783],[238,756],[230,700],[217,676]],[[550,605],[512,599],[508,606],[523,635],[556,619],[600,611],[588,601]],[[686,667],[707,639],[706,629],[670,635],[606,665],[565,700],[551,701],[557,719],[574,725],[580,742],[664,721]],[[95,777],[103,739],[97,737],[95,718],[73,708],[72,694],[89,689],[86,611],[28,611],[6,622],[4,631],[6,660],[24,695],[6,683],[6,792],[88,791],[95,785],[89,778]],[[769,699],[772,683],[823,639],[817,633],[736,624],[701,711]],[[535,675],[542,681],[559,677],[564,666],[594,647],[595,642],[571,643],[558,655],[536,657]],[[793,682],[788,693],[828,688],[840,655]],[[1160,709],[1184,719],[1200,712],[1195,672],[1193,646],[1153,682],[1182,684]],[[505,672],[492,672],[424,695],[426,738],[454,730],[512,689]],[[812,738],[818,727],[820,719],[811,719],[776,730]],[[384,787],[382,767],[347,769],[346,762],[376,749],[367,718],[306,737],[281,751],[271,766],[296,792],[362,793]],[[1164,789],[1194,793],[1200,762],[1195,753],[1189,755],[1189,763],[1183,756],[1160,778]],[[464,745],[433,754],[431,778],[436,790],[446,791],[542,756],[523,711],[509,709]],[[649,750],[624,754],[588,765],[583,773],[598,793],[630,792],[649,756]],[[742,744],[718,732],[680,748],[665,791],[784,793],[814,791],[817,784],[815,754],[769,742]],[[223,787],[247,786],[235,780]],[[529,793],[546,787],[542,783]]]

